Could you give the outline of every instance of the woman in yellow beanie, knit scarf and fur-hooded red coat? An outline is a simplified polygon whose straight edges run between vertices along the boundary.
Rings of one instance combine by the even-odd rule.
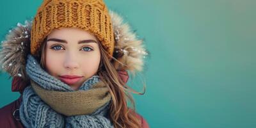
[[[18,24],[3,43],[3,69],[21,96],[0,109],[0,124],[148,127],[129,94],[138,92],[125,84],[145,55],[141,40],[103,1],[45,0],[33,23]]]

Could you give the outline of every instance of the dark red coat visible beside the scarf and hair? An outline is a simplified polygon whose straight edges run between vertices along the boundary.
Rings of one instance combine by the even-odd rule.
[[[123,81],[127,82],[127,74],[124,74],[124,72],[120,72],[120,77],[122,77]],[[26,84],[24,82],[22,83],[22,79],[20,77],[14,77],[12,81],[12,91],[13,92],[20,92],[22,93],[24,88],[26,87]],[[23,128],[24,125],[20,122],[19,118],[19,108],[20,103],[22,102],[22,96],[19,97],[19,99],[13,101],[12,103],[4,106],[0,109],[0,127],[4,128]],[[141,126],[142,128],[148,128],[147,121],[138,113],[136,113],[136,116],[139,120],[141,120]]]

